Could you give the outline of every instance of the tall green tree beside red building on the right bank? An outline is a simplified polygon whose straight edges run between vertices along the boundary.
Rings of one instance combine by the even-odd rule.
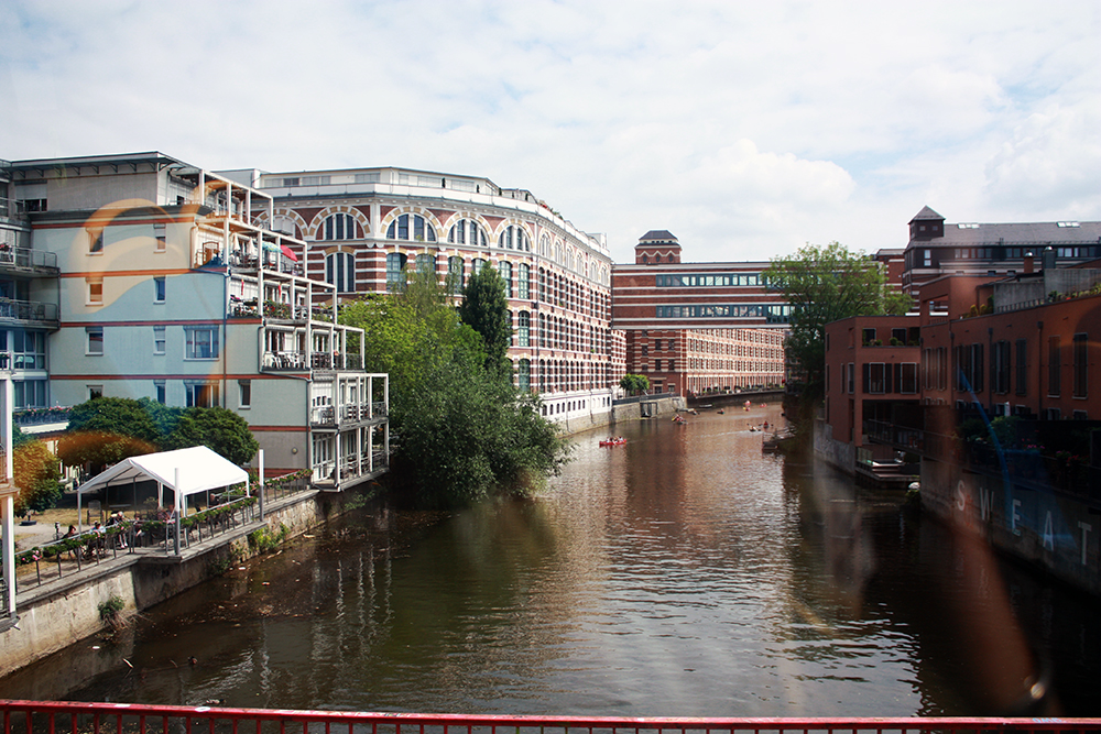
[[[792,306],[785,346],[805,374],[808,404],[825,394],[827,324],[850,316],[905,314],[911,306],[908,295],[886,285],[879,263],[837,242],[807,244],[792,256],[777,258],[764,276]]]

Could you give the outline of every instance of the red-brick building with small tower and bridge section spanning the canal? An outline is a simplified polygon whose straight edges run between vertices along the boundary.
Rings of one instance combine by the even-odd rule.
[[[642,235],[612,269],[612,326],[626,371],[655,392],[691,396],[780,385],[791,307],[762,280],[767,262],[685,263],[667,230]]]

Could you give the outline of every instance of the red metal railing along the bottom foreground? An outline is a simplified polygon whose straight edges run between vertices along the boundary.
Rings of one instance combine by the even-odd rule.
[[[1101,731],[1101,719],[621,719],[613,716],[495,716],[464,714],[361,713],[353,711],[287,711],[276,709],[222,709],[217,706],[161,706],[138,703],[72,703],[65,701],[0,701],[2,734],[145,734],[160,731],[192,734],[238,734],[242,724],[257,734],[286,734],[302,726],[303,734],[546,734],[562,730],[593,734],[652,732],[1086,732]]]

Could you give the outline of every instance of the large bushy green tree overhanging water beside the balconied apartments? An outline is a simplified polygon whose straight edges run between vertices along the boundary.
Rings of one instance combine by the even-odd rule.
[[[402,291],[348,304],[340,320],[364,329],[368,370],[390,373],[390,481],[417,504],[526,493],[566,460],[537,396],[493,369],[434,274],[410,273]]]

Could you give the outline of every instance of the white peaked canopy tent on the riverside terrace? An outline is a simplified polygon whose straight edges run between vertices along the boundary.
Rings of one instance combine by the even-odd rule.
[[[175,493],[177,515],[183,508],[184,497],[190,494],[241,482],[244,483],[246,492],[249,490],[247,471],[222,459],[205,446],[195,446],[189,449],[131,457],[100,472],[77,490],[77,513],[80,512],[80,496],[85,492],[145,480],[156,482],[159,499],[163,487],[168,487]]]

